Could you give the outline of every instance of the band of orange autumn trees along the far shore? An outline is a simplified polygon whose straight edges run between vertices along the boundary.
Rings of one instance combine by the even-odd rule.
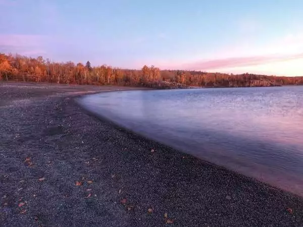
[[[89,62],[85,65],[73,62],[57,63],[45,60],[42,56],[28,58],[3,53],[0,53],[0,80],[153,88],[303,85],[303,77],[160,70],[154,66],[128,70],[107,65],[92,67]]]

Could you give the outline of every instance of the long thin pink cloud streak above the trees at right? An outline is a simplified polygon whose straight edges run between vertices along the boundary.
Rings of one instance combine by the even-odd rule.
[[[301,58],[303,58],[303,53],[247,56],[242,58],[236,57],[236,58],[200,61],[190,64],[184,64],[181,66],[181,68],[186,70],[208,71],[208,70],[232,68],[232,67],[255,66],[255,65],[261,65],[271,62],[283,62],[283,61],[301,59]]]

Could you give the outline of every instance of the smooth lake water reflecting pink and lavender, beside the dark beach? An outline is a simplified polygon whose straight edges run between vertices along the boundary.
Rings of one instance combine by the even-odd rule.
[[[151,139],[303,195],[303,86],[108,92],[81,103]]]

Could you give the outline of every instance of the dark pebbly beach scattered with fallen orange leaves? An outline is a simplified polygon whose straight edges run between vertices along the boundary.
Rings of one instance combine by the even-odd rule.
[[[0,226],[303,226],[302,198],[74,101],[117,89],[0,84]]]

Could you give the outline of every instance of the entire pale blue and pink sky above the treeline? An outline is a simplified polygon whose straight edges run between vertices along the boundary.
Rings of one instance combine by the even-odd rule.
[[[303,76],[303,1],[0,0],[0,52]]]

